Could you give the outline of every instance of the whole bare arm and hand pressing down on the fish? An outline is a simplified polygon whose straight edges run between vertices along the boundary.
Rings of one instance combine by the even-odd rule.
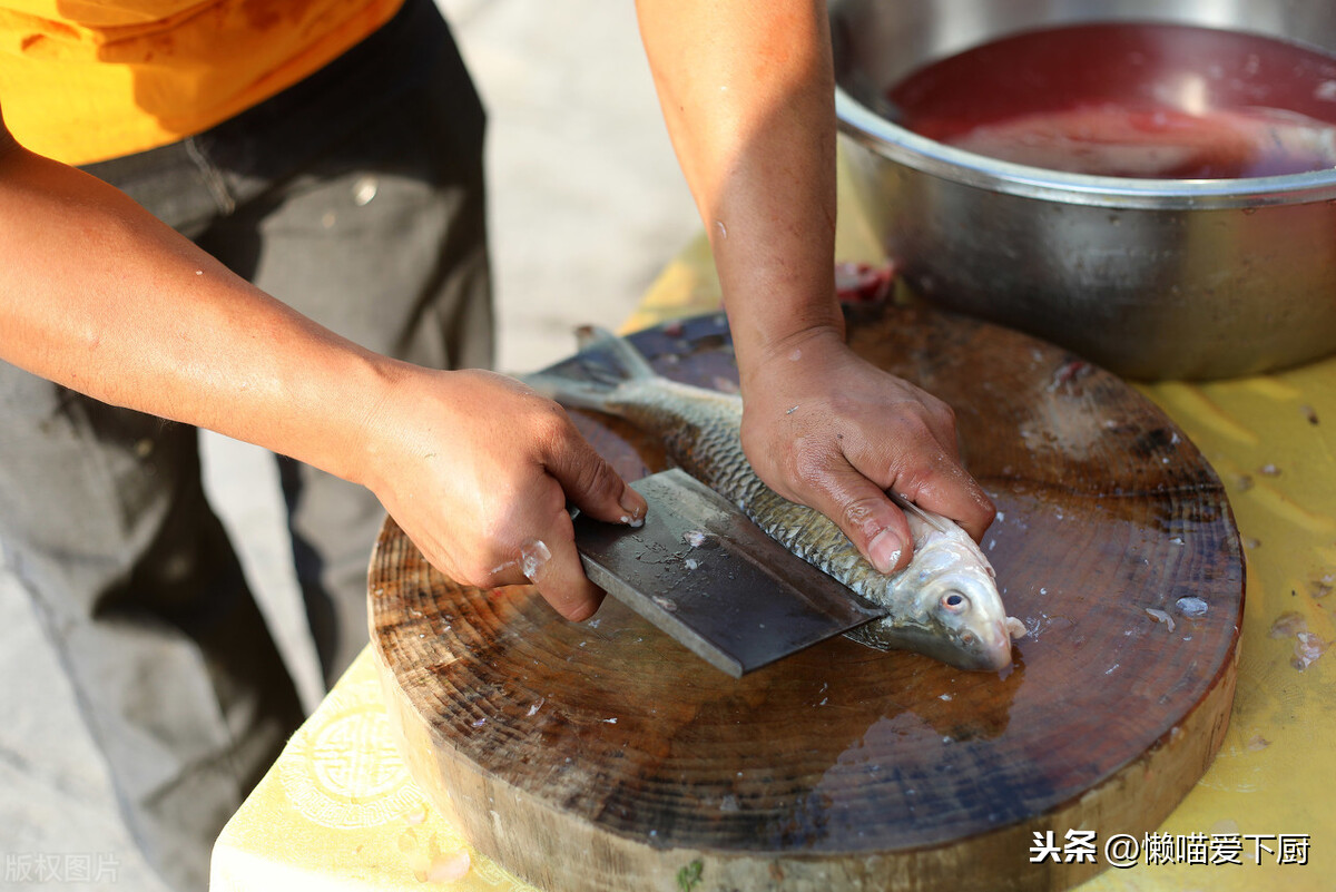
[[[912,551],[896,491],[978,539],[993,519],[941,401],[855,357],[835,299],[835,85],[820,0],[637,0],[737,351],[743,449],[883,573]],[[800,410],[800,411],[799,411]]]

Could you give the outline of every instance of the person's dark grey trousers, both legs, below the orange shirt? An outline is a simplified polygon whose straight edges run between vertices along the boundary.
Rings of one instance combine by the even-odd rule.
[[[409,0],[239,118],[87,170],[371,350],[486,366],[482,130],[445,23],[430,0]],[[383,510],[361,487],[279,461],[298,581],[333,680],[366,644],[366,565]],[[204,499],[196,430],[0,363],[0,539],[130,832],[172,887],[203,889],[222,824],[302,714]]]

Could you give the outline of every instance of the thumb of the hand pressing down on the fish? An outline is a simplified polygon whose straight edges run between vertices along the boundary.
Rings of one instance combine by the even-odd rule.
[[[904,568],[914,555],[914,537],[904,513],[851,465],[812,481],[811,507],[831,518],[879,573]]]

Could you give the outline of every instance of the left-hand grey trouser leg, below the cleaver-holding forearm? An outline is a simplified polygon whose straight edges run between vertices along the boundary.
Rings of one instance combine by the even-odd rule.
[[[0,363],[7,562],[106,757],[130,835],[180,889],[206,888],[214,839],[301,721],[204,503],[195,437]]]

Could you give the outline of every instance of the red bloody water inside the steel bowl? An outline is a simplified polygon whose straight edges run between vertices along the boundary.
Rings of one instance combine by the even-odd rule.
[[[1336,167],[1336,56],[1234,31],[1030,31],[921,68],[887,95],[914,132],[1050,170],[1233,179]]]

